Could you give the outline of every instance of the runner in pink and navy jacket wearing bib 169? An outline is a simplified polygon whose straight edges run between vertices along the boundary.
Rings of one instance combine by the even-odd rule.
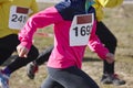
[[[95,35],[95,10],[91,0],[65,0],[31,16],[19,33],[18,54],[25,57],[37,29],[54,24],[54,47],[48,61],[49,76],[41,88],[99,88],[96,82],[81,70],[88,44],[108,63],[114,62]]]

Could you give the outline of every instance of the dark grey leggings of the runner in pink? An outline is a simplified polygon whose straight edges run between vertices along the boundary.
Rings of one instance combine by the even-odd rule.
[[[41,88],[55,88],[57,85],[57,88],[99,88],[88,74],[74,66],[65,69],[48,67],[48,73]]]

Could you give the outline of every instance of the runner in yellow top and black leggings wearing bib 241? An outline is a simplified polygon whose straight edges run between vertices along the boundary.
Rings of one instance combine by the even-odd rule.
[[[35,0],[0,0],[0,65],[17,51],[18,32],[27,19],[38,12]],[[16,59],[0,69],[0,88],[9,88],[10,75],[38,57],[38,50],[32,45],[27,57]]]

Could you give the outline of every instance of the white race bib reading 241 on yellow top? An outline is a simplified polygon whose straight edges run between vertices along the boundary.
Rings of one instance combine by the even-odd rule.
[[[28,8],[12,6],[10,8],[9,28],[20,30],[27,22],[28,13]]]

